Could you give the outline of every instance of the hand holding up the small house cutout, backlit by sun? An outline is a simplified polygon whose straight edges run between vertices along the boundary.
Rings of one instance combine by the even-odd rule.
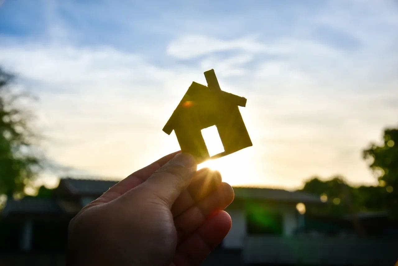
[[[134,172],[70,221],[68,265],[198,265],[228,233],[234,198],[219,172],[172,153]]]

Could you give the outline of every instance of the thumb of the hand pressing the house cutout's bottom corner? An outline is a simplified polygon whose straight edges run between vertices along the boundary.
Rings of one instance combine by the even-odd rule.
[[[154,192],[169,207],[189,185],[196,171],[196,160],[188,153],[178,153],[174,158],[156,170],[143,184]]]

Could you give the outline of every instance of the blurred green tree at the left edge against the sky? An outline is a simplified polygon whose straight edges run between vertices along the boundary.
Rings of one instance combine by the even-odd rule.
[[[39,170],[32,149],[37,138],[29,127],[32,117],[18,104],[27,96],[12,90],[13,80],[0,67],[0,195],[8,197],[22,195]]]

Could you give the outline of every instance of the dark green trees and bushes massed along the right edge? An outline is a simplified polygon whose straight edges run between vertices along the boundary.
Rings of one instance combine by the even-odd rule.
[[[351,215],[361,211],[388,211],[398,218],[398,129],[385,129],[383,143],[371,143],[363,157],[378,178],[378,186],[349,186],[342,176],[327,180],[315,176],[302,191],[327,199],[324,206],[309,207],[315,214]]]

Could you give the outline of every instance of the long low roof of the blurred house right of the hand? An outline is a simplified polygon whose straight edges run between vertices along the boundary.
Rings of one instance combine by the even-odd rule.
[[[322,203],[319,197],[300,191],[273,188],[234,187],[235,198],[266,199],[290,203]]]

